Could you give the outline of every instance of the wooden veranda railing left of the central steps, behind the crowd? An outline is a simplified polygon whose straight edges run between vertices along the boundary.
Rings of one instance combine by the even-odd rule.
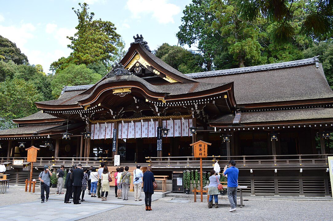
[[[0,159],[0,163],[4,162],[13,162],[13,160],[22,160],[27,162],[26,157],[3,157]],[[76,157],[38,157],[34,166],[44,166],[44,165],[64,165],[64,166],[72,166],[73,164],[82,164],[82,166],[99,166],[101,162],[105,162],[107,164],[113,164],[113,158],[107,157],[88,157],[88,158],[76,158]]]

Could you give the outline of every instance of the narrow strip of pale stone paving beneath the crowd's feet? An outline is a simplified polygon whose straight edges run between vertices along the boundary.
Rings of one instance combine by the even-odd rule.
[[[49,200],[52,200],[52,201],[61,200],[62,202],[64,202],[64,198],[65,198],[64,195],[65,194],[50,195]],[[101,198],[91,197],[90,195],[85,194],[84,199],[85,199],[85,201],[83,203],[92,202],[92,203],[103,203],[103,204],[121,204],[121,205],[137,205],[137,206],[145,205],[145,198],[141,198],[142,201],[134,201],[133,196],[129,196],[128,200],[123,200],[123,199],[116,198],[115,195],[111,195],[111,196],[108,196],[107,201],[102,201]],[[152,201],[155,201],[157,199],[158,198],[152,198]],[[73,202],[72,199],[71,199],[71,201]]]

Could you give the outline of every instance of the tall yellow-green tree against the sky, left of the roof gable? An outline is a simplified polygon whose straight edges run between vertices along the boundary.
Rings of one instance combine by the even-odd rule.
[[[70,60],[75,64],[90,64],[102,61],[106,66],[113,61],[117,53],[117,44],[120,42],[120,35],[112,22],[93,20],[94,13],[88,12],[87,3],[79,3],[81,9],[75,10],[79,24],[77,32],[73,37],[67,37],[72,41],[68,47],[73,50]]]

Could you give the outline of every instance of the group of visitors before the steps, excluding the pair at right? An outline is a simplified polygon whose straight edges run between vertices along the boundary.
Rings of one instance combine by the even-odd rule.
[[[152,195],[154,194],[153,183],[155,182],[152,167],[148,166],[145,173],[140,169],[140,165],[137,165],[136,167],[137,168],[133,171],[134,200],[142,201],[140,197],[144,181],[143,187],[145,192],[146,210],[150,211],[152,210],[151,203]],[[132,174],[129,172],[130,168],[128,166],[116,168],[116,172],[113,175],[113,172],[110,173],[108,167],[103,162],[97,171],[93,166],[90,166],[88,170],[86,167],[82,168],[81,164],[78,166],[73,165],[66,176],[65,184],[64,169],[65,166],[60,166],[57,170],[57,194],[64,194],[62,188],[64,185],[66,187],[64,203],[72,203],[70,199],[73,199],[74,204],[81,204],[81,202],[85,201],[84,195],[87,187],[91,197],[96,197],[97,192],[97,197],[101,198],[102,201],[106,201],[110,191],[110,182],[113,181],[112,177],[115,179],[115,197],[128,200],[128,193],[132,182]],[[49,170],[49,167],[44,166],[44,171],[39,174],[42,203],[45,201],[44,192],[46,192],[46,201],[49,199],[51,176],[52,172]]]

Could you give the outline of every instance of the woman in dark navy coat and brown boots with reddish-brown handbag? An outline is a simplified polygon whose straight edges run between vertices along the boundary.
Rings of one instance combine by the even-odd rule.
[[[144,173],[143,182],[144,182],[146,211],[151,211],[152,195],[154,194],[154,190],[157,188],[157,184],[155,182],[154,173],[152,172],[151,166],[147,167],[147,170]]]

